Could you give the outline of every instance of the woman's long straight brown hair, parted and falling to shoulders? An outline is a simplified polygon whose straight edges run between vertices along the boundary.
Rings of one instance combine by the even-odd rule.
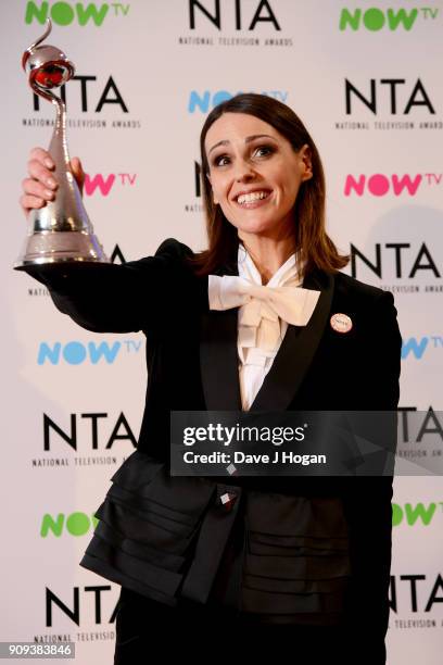
[[[258,117],[279,131],[295,151],[299,151],[304,143],[309,146],[313,177],[302,183],[295,200],[296,223],[293,227],[295,247],[301,265],[304,266],[304,274],[315,268],[333,273],[344,267],[349,256],[339,254],[326,233],[325,173],[318,150],[306,127],[286,104],[265,95],[244,93],[215,106],[206,117],[200,135],[202,193],[208,248],[191,260],[195,274],[205,276],[220,266],[237,262],[240,241],[237,228],[225,217],[220,206],[214,203],[211,184],[206,177],[210,172],[204,146],[206,134],[224,113],[248,113]]]

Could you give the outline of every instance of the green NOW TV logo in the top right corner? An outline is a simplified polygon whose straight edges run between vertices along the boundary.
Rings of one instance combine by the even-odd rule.
[[[377,7],[365,10],[342,9],[339,27],[341,30],[366,28],[375,33],[384,27],[389,30],[396,30],[397,28],[410,30],[418,16],[426,21],[432,21],[436,18],[438,14],[438,8],[432,7],[409,8],[407,10],[403,8],[382,10]]]

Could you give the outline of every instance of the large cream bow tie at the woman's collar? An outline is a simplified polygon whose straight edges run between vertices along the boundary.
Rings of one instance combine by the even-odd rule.
[[[279,318],[293,326],[305,326],[319,296],[320,291],[294,286],[262,286],[237,275],[208,276],[210,309],[241,308],[239,324],[252,328],[248,336],[250,341],[243,346],[260,346],[269,351],[280,336]]]

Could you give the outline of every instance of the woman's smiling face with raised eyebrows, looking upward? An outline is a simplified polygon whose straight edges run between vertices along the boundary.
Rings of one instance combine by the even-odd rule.
[[[239,236],[286,235],[300,185],[312,177],[308,146],[294,152],[264,121],[225,113],[210,127],[205,149],[214,202]]]

